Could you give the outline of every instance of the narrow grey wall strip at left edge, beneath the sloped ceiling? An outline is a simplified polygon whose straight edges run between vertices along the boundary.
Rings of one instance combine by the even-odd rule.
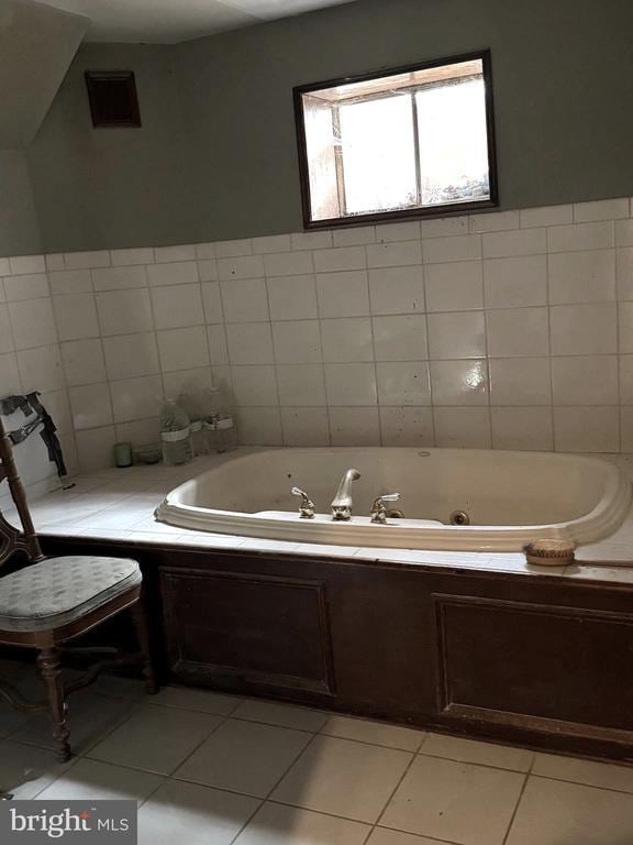
[[[26,157],[20,150],[0,150],[0,255],[41,251]]]

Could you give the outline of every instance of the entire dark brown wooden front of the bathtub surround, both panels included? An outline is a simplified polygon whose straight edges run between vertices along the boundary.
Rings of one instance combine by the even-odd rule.
[[[631,584],[167,539],[44,544],[141,562],[164,680],[633,759]]]

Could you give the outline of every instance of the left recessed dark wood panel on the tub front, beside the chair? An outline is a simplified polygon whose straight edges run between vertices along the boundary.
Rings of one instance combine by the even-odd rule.
[[[322,582],[181,568],[160,580],[176,673],[332,692]]]

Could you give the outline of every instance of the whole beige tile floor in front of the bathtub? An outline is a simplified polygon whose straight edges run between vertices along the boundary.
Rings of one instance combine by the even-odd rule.
[[[0,665],[14,680],[24,668]],[[0,704],[0,788],[130,798],[141,845],[631,845],[633,768],[321,711],[101,679],[71,699],[78,751]],[[159,738],[159,742],[157,739]]]

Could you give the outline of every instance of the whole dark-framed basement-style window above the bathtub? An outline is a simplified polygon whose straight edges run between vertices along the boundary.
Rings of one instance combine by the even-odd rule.
[[[497,205],[490,55],[295,89],[306,228]]]

